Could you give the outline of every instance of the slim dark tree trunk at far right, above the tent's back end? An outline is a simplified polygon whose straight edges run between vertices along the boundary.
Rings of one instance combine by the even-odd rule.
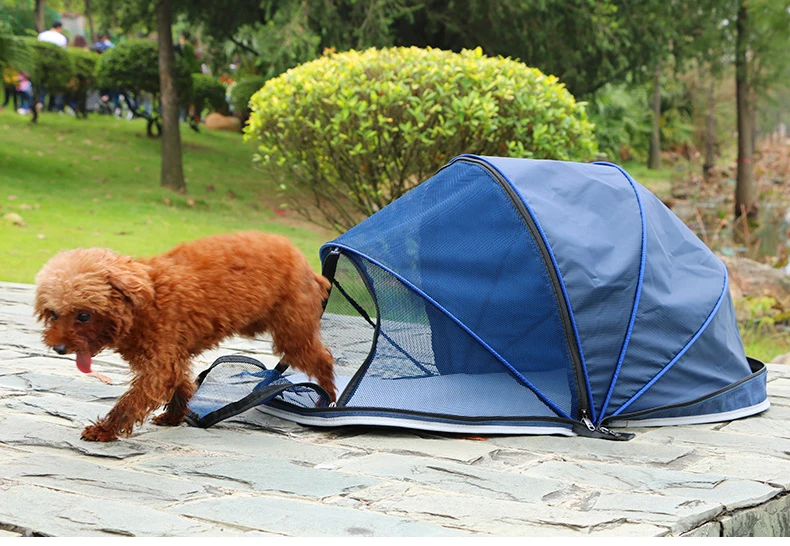
[[[735,183],[735,217],[746,213],[748,218],[757,218],[757,185],[754,181],[754,112],[752,110],[751,85],[749,81],[749,21],[746,2],[738,8],[737,38],[735,52],[735,94],[738,107],[738,174]]]

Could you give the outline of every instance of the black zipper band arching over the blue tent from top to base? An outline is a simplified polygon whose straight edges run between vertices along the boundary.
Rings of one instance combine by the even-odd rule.
[[[541,258],[543,258],[543,265],[549,275],[551,287],[554,291],[554,298],[557,301],[557,307],[560,311],[560,318],[565,331],[565,343],[567,344],[568,354],[570,355],[571,364],[573,365],[574,378],[576,380],[576,393],[579,397],[579,421],[581,422],[581,426],[579,428],[584,428],[587,430],[588,427],[584,422],[584,419],[587,419],[588,422],[590,421],[587,417],[590,410],[590,400],[587,396],[587,382],[584,378],[584,370],[582,370],[581,355],[579,354],[578,346],[575,343],[571,343],[571,340],[576,339],[576,335],[573,332],[573,324],[571,323],[570,314],[568,313],[568,305],[570,304],[565,301],[565,297],[562,293],[562,287],[560,285],[559,275],[554,269],[554,264],[551,260],[551,254],[549,253],[548,246],[543,240],[543,237],[540,235],[540,230],[538,230],[535,220],[532,218],[529,210],[527,210],[527,207],[524,205],[521,197],[518,195],[510,182],[508,182],[508,180],[502,175],[502,173],[481,159],[476,159],[473,157],[461,157],[457,161],[465,161],[467,163],[472,163],[473,165],[482,167],[494,178],[494,180],[497,181],[497,183],[507,194],[510,202],[516,208],[516,211],[518,211],[522,221],[524,222],[524,225],[526,225],[527,229],[532,235],[532,239],[535,241],[535,244],[538,245]],[[452,163],[454,162],[451,162],[450,164]],[[449,166],[450,164],[446,166]],[[592,425],[592,422],[590,422],[590,425]],[[595,429],[594,426],[593,429]]]

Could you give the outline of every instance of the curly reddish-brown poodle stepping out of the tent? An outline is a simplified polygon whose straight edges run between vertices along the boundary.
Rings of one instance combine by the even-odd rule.
[[[153,422],[181,423],[195,391],[192,357],[234,334],[270,332],[283,360],[334,401],[334,359],[320,338],[329,287],[288,239],[242,232],[140,260],[101,248],[60,252],[36,276],[35,312],[44,343],[76,353],[80,371],[90,373],[104,348],[129,363],[129,391],[82,432],[108,442],[163,404]]]

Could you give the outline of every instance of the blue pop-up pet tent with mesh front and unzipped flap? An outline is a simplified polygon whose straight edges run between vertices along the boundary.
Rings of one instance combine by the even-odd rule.
[[[616,165],[459,156],[321,258],[337,404],[230,362],[194,421],[235,396],[309,425],[622,438],[769,405],[725,266]]]

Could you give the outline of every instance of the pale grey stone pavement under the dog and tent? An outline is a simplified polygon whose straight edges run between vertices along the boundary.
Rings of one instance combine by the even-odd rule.
[[[80,431],[125,388],[40,341],[33,288],[0,283],[0,537],[790,535],[790,366],[768,412],[630,442],[316,429],[252,410],[208,430]],[[275,359],[264,341],[203,355]]]

